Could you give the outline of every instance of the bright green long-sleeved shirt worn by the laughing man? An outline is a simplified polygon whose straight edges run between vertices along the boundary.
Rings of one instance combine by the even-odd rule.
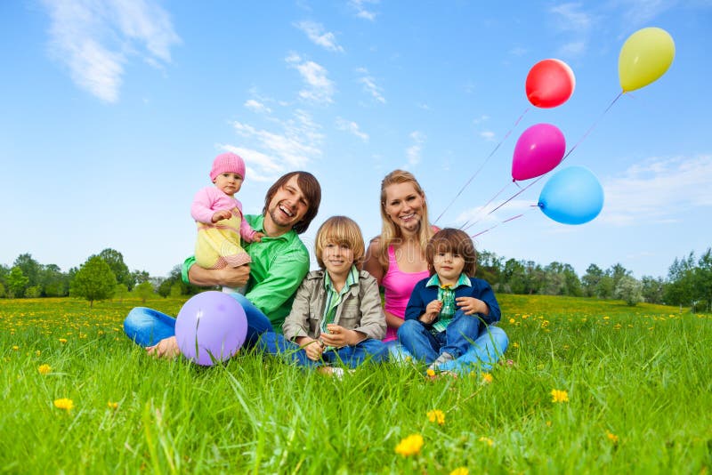
[[[252,229],[264,232],[262,214],[246,214],[245,219]],[[281,333],[282,323],[292,309],[296,289],[309,272],[309,251],[294,230],[277,238],[263,236],[262,242],[244,243],[243,246],[252,258],[245,296]],[[183,262],[183,282],[189,282],[188,270],[194,263],[195,256]]]

